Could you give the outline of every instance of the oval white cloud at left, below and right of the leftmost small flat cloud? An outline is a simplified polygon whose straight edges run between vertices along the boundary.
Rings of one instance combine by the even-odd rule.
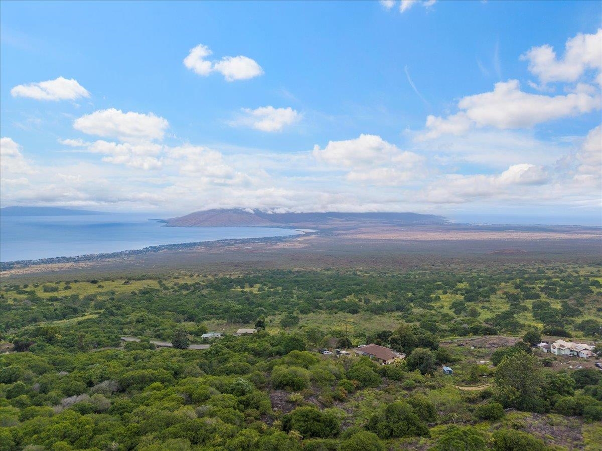
[[[73,128],[88,135],[122,141],[162,140],[169,122],[154,114],[123,112],[109,108],[86,114],[73,122]]]

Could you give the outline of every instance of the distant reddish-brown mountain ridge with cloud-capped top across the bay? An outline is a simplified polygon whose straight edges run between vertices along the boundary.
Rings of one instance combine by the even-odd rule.
[[[352,224],[441,225],[443,216],[420,213],[268,213],[256,209],[213,209],[167,219],[170,227],[321,227]]]

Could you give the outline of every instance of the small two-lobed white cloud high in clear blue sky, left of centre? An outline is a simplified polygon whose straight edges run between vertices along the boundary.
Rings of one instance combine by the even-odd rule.
[[[263,73],[261,66],[249,57],[238,55],[237,57],[223,57],[219,61],[206,60],[205,58],[211,54],[212,52],[207,46],[199,44],[191,49],[188,56],[184,58],[184,66],[203,76],[207,76],[211,72],[219,72],[226,81],[246,80]]]

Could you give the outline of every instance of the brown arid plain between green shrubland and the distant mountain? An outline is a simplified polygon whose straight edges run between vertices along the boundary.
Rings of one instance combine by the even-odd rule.
[[[307,224],[311,225],[311,224]],[[329,224],[290,238],[170,245],[81,261],[17,265],[3,278],[237,272],[247,268],[403,269],[470,263],[599,262],[602,229],[581,226]]]

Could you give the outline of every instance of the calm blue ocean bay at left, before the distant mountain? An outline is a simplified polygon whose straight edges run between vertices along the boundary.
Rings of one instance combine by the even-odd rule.
[[[0,216],[0,261],[75,257],[164,244],[291,236],[273,227],[165,227],[141,215]]]

